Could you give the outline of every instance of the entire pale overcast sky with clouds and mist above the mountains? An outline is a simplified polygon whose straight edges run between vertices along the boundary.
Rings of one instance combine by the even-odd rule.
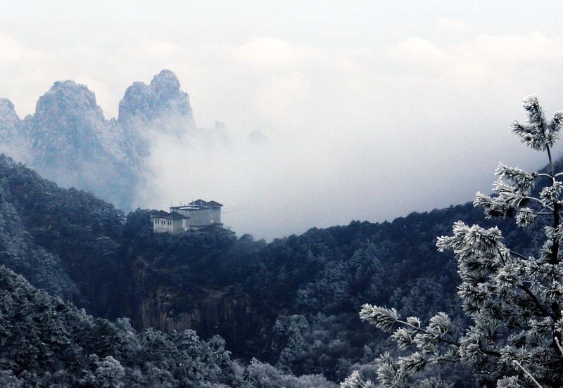
[[[110,118],[129,84],[170,69],[198,126],[224,122],[234,145],[164,139],[141,207],[214,199],[265,238],[391,220],[489,192],[499,161],[540,167],[508,125],[531,93],[563,109],[559,2],[420,4],[0,1],[0,97],[24,117],[74,79]]]

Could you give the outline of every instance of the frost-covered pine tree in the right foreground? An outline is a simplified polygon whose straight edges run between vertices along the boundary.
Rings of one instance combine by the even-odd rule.
[[[379,358],[378,380],[383,387],[412,387],[426,366],[465,363],[497,387],[563,387],[563,172],[555,171],[552,147],[563,124],[563,112],[548,122],[536,96],[524,99],[529,122],[512,123],[522,143],[548,157],[546,173],[529,174],[499,164],[493,196],[477,193],[474,205],[488,218],[514,216],[523,228],[545,226],[545,241],[533,255],[515,252],[497,228],[468,226],[458,221],[453,235],[438,238],[438,251],[453,251],[462,283],[458,295],[472,321],[454,335],[446,313],[428,323],[402,318],[396,309],[365,304],[363,321],[392,332],[407,355]],[[541,219],[545,219],[542,221]],[[537,245],[531,242],[530,246]],[[375,387],[354,373],[343,388]]]

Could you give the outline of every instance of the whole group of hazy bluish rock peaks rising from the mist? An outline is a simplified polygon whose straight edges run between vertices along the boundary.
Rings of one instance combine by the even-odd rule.
[[[55,82],[24,120],[11,101],[0,99],[0,152],[125,210],[144,180],[151,140],[195,129],[189,96],[170,70],[151,84],[129,86],[118,119],[106,120],[94,92],[73,81]]]

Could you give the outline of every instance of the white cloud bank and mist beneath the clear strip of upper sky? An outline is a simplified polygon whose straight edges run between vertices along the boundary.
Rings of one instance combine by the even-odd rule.
[[[470,30],[459,20],[438,25]],[[20,47],[16,65],[0,60],[2,93],[31,110],[55,79],[75,77],[96,92],[108,117],[129,84],[170,68],[198,126],[225,122],[233,144],[157,139],[155,174],[137,205],[215,199],[238,209],[225,212],[237,232],[273,238],[472,200],[490,189],[499,160],[543,163],[507,125],[524,117],[519,103],[529,93],[548,114],[562,108],[562,37],[469,32],[454,43],[421,34],[355,46],[267,34],[193,46],[139,39],[102,53],[44,51],[40,62]],[[248,145],[252,131],[267,143]]]

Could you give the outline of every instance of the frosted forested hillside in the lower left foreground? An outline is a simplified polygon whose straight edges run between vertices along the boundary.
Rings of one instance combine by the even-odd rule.
[[[127,318],[94,318],[0,266],[2,387],[332,387],[231,360],[224,340],[194,330],[137,332]]]

